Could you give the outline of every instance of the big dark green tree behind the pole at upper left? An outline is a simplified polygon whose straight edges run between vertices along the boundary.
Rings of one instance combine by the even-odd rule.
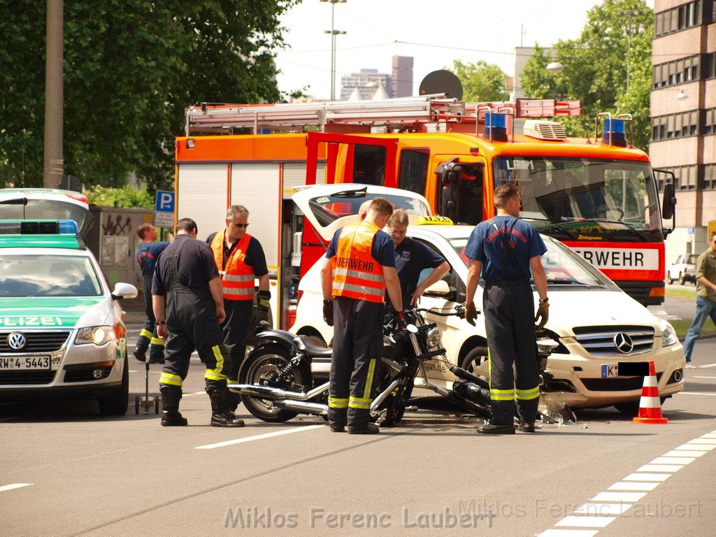
[[[197,102],[279,102],[279,16],[300,0],[64,1],[64,171],[173,180]],[[45,2],[0,0],[0,183],[42,184]]]

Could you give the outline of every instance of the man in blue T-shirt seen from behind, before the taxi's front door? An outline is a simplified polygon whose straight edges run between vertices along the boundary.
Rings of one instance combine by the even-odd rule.
[[[485,279],[483,311],[490,360],[492,418],[478,427],[483,434],[514,434],[515,398],[518,430],[535,432],[539,373],[534,323],[548,319],[547,279],[540,257],[547,251],[538,231],[520,216],[520,188],[503,184],[494,193],[497,216],[480,222],[470,234],[465,256],[468,269],[465,319],[475,326],[473,298]],[[537,316],[530,270],[539,294]],[[513,373],[513,364],[516,374]]]

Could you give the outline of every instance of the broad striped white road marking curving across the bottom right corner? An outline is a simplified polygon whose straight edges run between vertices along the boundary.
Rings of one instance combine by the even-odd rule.
[[[716,431],[707,432],[667,451],[649,464],[642,465],[621,481],[610,485],[574,510],[574,513],[558,521],[537,537],[594,537],[599,529],[606,528],[629,508],[657,488],[665,480],[716,448]],[[564,528],[564,529],[563,529]],[[570,528],[570,529],[567,529]],[[580,529],[575,529],[580,528]],[[581,529],[589,528],[589,529]]]

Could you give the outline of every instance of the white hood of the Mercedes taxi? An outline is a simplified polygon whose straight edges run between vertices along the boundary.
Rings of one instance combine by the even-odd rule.
[[[655,334],[661,333],[659,319],[623,291],[559,291],[558,287],[549,286],[548,296],[546,327],[561,336],[574,336],[574,329],[579,326],[650,326]]]

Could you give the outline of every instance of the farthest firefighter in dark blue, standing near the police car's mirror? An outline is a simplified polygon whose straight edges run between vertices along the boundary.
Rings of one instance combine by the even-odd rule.
[[[169,246],[169,243],[155,242],[157,230],[150,223],[143,223],[137,227],[137,237],[142,239],[142,246],[137,250],[137,261],[139,261],[142,279],[144,279],[144,308],[147,312],[147,320],[144,321],[142,332],[139,333],[133,354],[140,362],[146,362],[147,349],[150,349],[149,363],[163,364],[164,340],[157,337],[157,327],[152,309],[152,276],[159,254]]]

